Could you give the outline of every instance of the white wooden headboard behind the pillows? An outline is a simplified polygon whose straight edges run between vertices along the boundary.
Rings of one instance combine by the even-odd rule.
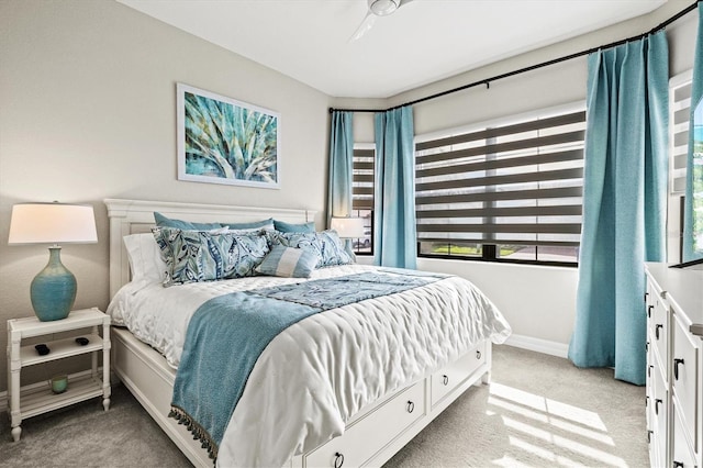
[[[315,211],[233,207],[226,204],[178,203],[170,201],[105,199],[110,218],[110,298],[130,281],[130,261],[122,238],[149,232],[155,225],[154,212],[177,220],[208,223],[242,223],[274,218],[287,223],[315,220]]]

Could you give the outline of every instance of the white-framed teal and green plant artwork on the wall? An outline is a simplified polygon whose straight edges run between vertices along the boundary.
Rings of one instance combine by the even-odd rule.
[[[178,179],[280,187],[280,115],[177,83]]]

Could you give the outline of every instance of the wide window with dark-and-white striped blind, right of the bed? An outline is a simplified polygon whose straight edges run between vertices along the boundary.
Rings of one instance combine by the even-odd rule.
[[[417,138],[419,254],[576,265],[584,107]]]

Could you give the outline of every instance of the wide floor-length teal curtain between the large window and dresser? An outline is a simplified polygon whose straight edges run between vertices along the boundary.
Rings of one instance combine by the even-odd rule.
[[[662,261],[668,177],[666,32],[588,58],[583,225],[569,359],[645,383],[645,261]]]

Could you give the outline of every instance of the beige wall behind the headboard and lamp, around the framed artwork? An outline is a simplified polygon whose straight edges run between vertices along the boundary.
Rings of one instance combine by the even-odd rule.
[[[48,259],[44,246],[8,246],[14,203],[93,204],[99,243],[66,245],[62,257],[78,280],[76,308],[103,310],[104,198],[310,208],[322,227],[330,104],[322,92],[109,0],[1,0],[0,68],[3,352],[5,320],[33,314],[30,282]],[[280,190],[177,180],[176,82],[280,113]]]

